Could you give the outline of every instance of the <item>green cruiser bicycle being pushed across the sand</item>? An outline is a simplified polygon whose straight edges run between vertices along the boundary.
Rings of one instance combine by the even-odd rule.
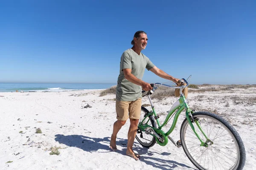
[[[138,124],[136,139],[143,147],[152,147],[155,143],[165,146],[168,139],[177,147],[183,147],[186,156],[200,170],[241,170],[245,164],[244,144],[235,128],[221,116],[214,113],[189,108],[188,100],[182,91],[189,83],[180,79],[182,86],[170,86],[155,83],[153,90],[143,91],[148,96],[152,111],[141,107],[141,117]],[[186,84],[185,84],[186,83]],[[161,125],[151,101],[150,94],[161,85],[180,90],[180,98],[169,110]],[[180,127],[180,140],[175,142],[169,135],[175,129],[180,113],[186,109],[186,119]],[[174,116],[172,126],[167,132],[162,130]]]

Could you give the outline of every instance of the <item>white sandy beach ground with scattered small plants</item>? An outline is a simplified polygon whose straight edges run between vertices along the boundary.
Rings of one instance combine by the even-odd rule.
[[[129,122],[118,133],[117,152],[112,152],[109,143],[113,122],[116,121],[115,96],[99,96],[99,92],[0,93],[0,169],[197,169],[186,157],[182,147],[177,148],[170,141],[165,147],[155,144],[146,149],[135,139],[134,151],[141,155],[141,159],[135,161],[126,156]],[[234,125],[246,149],[245,170],[256,170],[256,105],[247,104],[247,100],[236,104],[236,99],[232,97],[256,98],[255,92],[255,88],[200,94],[189,92],[190,107],[209,105]],[[70,96],[72,94],[85,95]],[[198,101],[201,98],[206,99],[206,102]],[[176,100],[177,98],[170,97],[162,102],[153,101],[157,113],[166,114],[171,103]],[[149,104],[147,98],[143,98],[143,104],[145,103]],[[82,109],[87,104],[92,108]],[[180,115],[177,128],[171,134],[175,141],[179,139],[184,113]],[[164,116],[160,116],[160,121],[163,119]],[[42,133],[35,133],[38,127]],[[19,133],[20,131],[23,133]],[[61,147],[60,155],[49,154],[49,149],[54,146]],[[6,163],[7,161],[13,162]]]

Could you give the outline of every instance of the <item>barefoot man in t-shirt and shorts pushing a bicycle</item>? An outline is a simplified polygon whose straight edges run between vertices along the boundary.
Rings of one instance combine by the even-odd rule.
[[[137,31],[131,41],[132,48],[126,50],[121,57],[120,73],[116,86],[116,119],[113,125],[110,148],[116,151],[116,135],[126,120],[130,119],[128,130],[128,143],[126,155],[138,160],[140,156],[132,150],[132,145],[137,133],[137,126],[141,113],[142,89],[150,91],[151,85],[142,80],[145,68],[152,71],[159,77],[172,80],[177,83],[179,79],[173,78],[164,71],[157,68],[144,54],[148,42],[147,34],[144,31]]]

